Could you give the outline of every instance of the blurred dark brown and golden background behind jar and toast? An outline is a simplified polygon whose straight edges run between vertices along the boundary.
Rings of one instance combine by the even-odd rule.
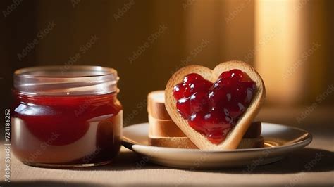
[[[244,60],[266,84],[259,120],[330,124],[333,8],[330,0],[2,0],[1,107],[11,107],[18,68],[101,65],[118,70],[125,125],[147,122],[147,93],[175,70]]]

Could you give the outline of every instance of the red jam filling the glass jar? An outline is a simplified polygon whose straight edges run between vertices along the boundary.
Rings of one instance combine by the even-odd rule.
[[[16,93],[13,151],[28,165],[110,161],[120,149],[122,107],[116,94],[23,96]]]

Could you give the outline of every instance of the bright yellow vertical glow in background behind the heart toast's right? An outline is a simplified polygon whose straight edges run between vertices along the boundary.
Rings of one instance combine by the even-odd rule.
[[[300,1],[255,1],[255,62],[268,103],[293,105],[304,91],[307,33]]]

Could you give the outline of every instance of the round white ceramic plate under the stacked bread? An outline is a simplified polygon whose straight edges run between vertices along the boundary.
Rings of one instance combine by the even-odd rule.
[[[312,141],[307,131],[282,124],[262,123],[264,148],[225,151],[204,151],[182,148],[161,148],[148,145],[149,124],[134,124],[123,129],[123,146],[149,157],[150,162],[186,169],[256,167],[276,162],[288,153],[304,148]]]

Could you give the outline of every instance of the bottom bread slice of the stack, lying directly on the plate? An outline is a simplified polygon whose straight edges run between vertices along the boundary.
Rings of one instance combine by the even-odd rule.
[[[188,148],[198,149],[197,146],[187,137],[154,137],[149,136],[149,145],[165,148]],[[242,138],[238,149],[244,148],[263,148],[264,138],[259,136],[257,138]]]

